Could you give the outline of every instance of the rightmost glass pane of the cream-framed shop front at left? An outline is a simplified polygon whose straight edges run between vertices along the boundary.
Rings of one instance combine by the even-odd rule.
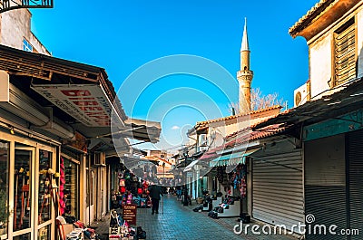
[[[51,219],[52,177],[48,169],[52,168],[52,153],[39,150],[39,191],[38,191],[38,225]]]

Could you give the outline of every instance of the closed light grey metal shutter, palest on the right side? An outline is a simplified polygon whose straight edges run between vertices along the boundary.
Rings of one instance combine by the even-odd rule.
[[[288,230],[304,223],[301,150],[253,158],[252,181],[254,218]]]

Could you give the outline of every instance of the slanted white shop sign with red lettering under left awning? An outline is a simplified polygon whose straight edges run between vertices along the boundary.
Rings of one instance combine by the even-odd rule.
[[[101,85],[32,85],[34,91],[89,127],[109,127],[113,103]],[[116,124],[120,118],[114,119]]]

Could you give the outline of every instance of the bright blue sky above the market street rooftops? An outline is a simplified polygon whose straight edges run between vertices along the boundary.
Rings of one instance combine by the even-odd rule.
[[[217,62],[235,78],[247,17],[252,87],[263,94],[278,92],[292,107],[294,89],[309,79],[309,55],[306,41],[292,39],[288,31],[316,2],[54,0],[54,9],[32,10],[32,29],[55,57],[103,67],[117,90],[143,64],[173,54]],[[172,148],[182,144],[181,130],[196,121],[227,116],[229,103],[238,101],[236,84],[221,79],[216,86],[177,74],[142,92],[122,92],[120,99],[129,116],[161,121],[170,143],[164,148]],[[138,103],[130,104],[135,94]]]

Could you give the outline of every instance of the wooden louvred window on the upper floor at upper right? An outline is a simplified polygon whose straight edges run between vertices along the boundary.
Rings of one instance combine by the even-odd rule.
[[[356,77],[356,28],[354,18],[334,33],[334,69],[338,86]]]

